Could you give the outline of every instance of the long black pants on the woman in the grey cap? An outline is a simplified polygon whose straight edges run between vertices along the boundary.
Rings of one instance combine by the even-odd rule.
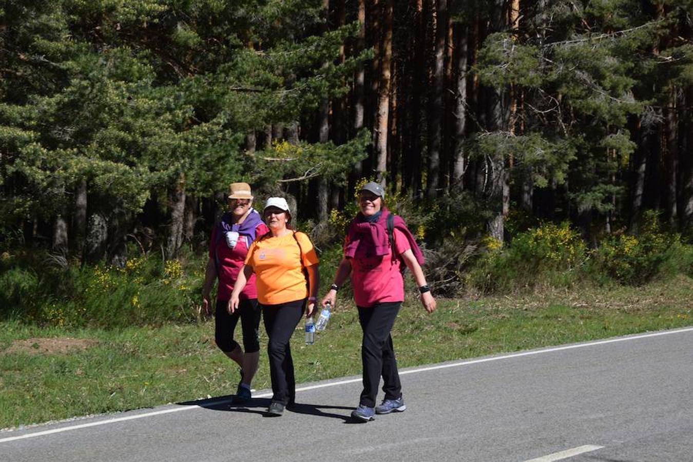
[[[392,348],[390,330],[394,326],[402,302],[377,303],[371,308],[358,307],[358,320],[363,330],[361,360],[363,362],[363,391],[360,404],[374,407],[378,396],[380,376],[386,400],[402,396],[397,360]]]

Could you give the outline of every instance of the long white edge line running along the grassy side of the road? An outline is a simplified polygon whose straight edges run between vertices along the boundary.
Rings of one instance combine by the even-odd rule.
[[[521,353],[512,353],[510,355],[493,356],[493,357],[486,357],[486,358],[482,358],[482,359],[472,359],[470,361],[454,362],[454,363],[449,363],[449,364],[439,364],[437,366],[412,368],[412,369],[407,369],[406,371],[400,371],[399,375],[406,375],[406,374],[413,374],[413,373],[427,372],[427,371],[435,371],[437,369],[445,369],[445,368],[459,367],[459,366],[468,366],[470,364],[479,364],[482,362],[498,361],[500,359],[512,359],[512,358],[516,358],[516,357],[539,355],[541,353],[552,353],[554,351],[572,350],[574,348],[585,348],[588,346],[613,344],[613,343],[616,343],[619,341],[646,339],[649,337],[659,337],[660,335],[680,334],[683,332],[691,332],[691,331],[693,331],[693,327],[684,328],[684,329],[676,329],[676,330],[665,330],[662,332],[653,332],[651,334],[632,335],[631,337],[619,337],[617,339],[590,341],[590,342],[585,343],[585,344],[556,346],[556,347],[552,347],[552,348],[544,348],[541,350],[532,350],[532,351],[523,351]],[[308,390],[314,390],[314,389],[319,389],[319,388],[335,387],[337,385],[344,385],[344,384],[361,382],[361,380],[362,380],[361,378],[349,379],[349,380],[338,380],[337,382],[327,382],[327,383],[322,383],[322,384],[309,385],[307,387],[299,387],[296,389],[296,391],[297,392],[298,391],[308,391]],[[272,393],[263,393],[261,395],[254,395],[254,398],[269,398],[270,396],[272,396]],[[209,407],[209,406],[223,405],[227,402],[231,402],[231,398],[225,398],[223,400],[218,400],[218,401],[207,401],[207,402],[205,402],[205,406]],[[44,430],[42,432],[28,433],[28,434],[19,435],[19,436],[9,436],[7,438],[0,438],[0,443],[8,443],[10,441],[21,440],[24,438],[34,438],[35,436],[44,436],[44,435],[50,435],[50,434],[55,434],[55,433],[68,432],[69,430],[76,430],[76,429],[80,429],[80,428],[96,427],[98,425],[106,425],[109,423],[123,422],[125,420],[136,420],[139,418],[159,416],[160,414],[170,414],[170,413],[179,412],[179,411],[190,411],[191,409],[200,409],[200,407],[201,407],[200,405],[182,405],[182,407],[175,407],[173,409],[162,409],[161,411],[146,412],[146,413],[137,414],[134,416],[116,417],[116,418],[110,418],[110,419],[106,419],[106,420],[99,420],[98,422],[83,423],[83,424],[79,424],[79,425],[71,425],[69,427],[60,427],[60,428],[55,428],[55,429],[51,429],[51,430]],[[558,459],[554,459],[554,460],[558,460]]]

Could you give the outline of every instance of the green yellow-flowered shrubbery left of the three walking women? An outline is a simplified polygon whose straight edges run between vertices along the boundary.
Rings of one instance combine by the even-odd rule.
[[[0,315],[53,326],[103,328],[196,319],[206,257],[130,258],[123,268],[17,258],[0,276]],[[7,262],[3,266],[8,265]]]

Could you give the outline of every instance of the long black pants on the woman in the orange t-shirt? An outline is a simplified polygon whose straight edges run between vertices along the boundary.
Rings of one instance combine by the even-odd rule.
[[[287,405],[296,398],[296,377],[289,340],[303,317],[306,300],[279,305],[261,305],[267,330],[267,356],[270,358],[272,401]]]

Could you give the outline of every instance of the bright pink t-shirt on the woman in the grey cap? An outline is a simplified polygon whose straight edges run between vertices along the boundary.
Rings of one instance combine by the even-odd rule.
[[[396,254],[409,250],[409,240],[399,231],[392,233]],[[392,251],[383,256],[365,256],[365,247],[358,247],[351,258],[351,287],[356,305],[368,308],[376,303],[404,301],[404,281],[399,258]]]

